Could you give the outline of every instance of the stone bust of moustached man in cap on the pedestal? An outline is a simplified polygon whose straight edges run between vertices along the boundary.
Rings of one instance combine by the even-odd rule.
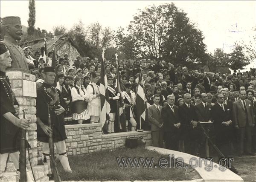
[[[2,26],[4,30],[4,37],[2,43],[4,43],[10,52],[12,58],[11,68],[29,69],[26,56],[20,46],[17,45],[17,41],[21,40],[23,35],[20,17],[10,16],[3,17]]]

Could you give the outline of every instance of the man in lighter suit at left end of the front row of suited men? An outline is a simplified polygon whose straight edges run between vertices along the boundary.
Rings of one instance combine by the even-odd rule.
[[[162,106],[159,105],[160,96],[153,96],[154,104],[148,107],[148,120],[151,122],[151,135],[154,147],[163,147],[163,121],[161,119]]]

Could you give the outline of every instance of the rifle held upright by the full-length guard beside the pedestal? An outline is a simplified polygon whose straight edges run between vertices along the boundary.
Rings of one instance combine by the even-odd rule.
[[[50,110],[49,110],[49,104],[47,104],[47,108],[48,108],[49,127],[53,131],[52,124],[51,124],[51,114],[50,114]],[[48,143],[49,143],[50,167],[51,167],[51,171],[53,173],[54,181],[55,182],[61,182],[61,177],[59,176],[58,169],[55,166],[54,143],[53,143],[53,139],[52,139],[52,133],[50,133]]]

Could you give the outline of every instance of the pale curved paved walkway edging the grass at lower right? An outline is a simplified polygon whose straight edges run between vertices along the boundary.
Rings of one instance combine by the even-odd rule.
[[[168,150],[164,148],[159,147],[146,147],[148,150],[155,150],[158,153],[166,154],[166,155],[175,155],[175,158],[181,157],[184,159],[185,164],[189,164],[190,160],[193,158],[193,160],[200,161],[201,158],[197,156],[192,156],[187,153],[178,152],[175,150]],[[192,164],[195,164],[193,161]],[[210,163],[207,164],[207,166],[204,164],[204,161],[201,162],[201,167],[196,167],[195,170],[199,173],[199,175],[202,177],[204,182],[243,182],[244,180],[238,176],[236,173],[233,173],[231,170],[227,169],[224,171],[221,171],[220,168],[222,168],[217,163],[213,162],[211,164],[213,166],[211,171],[206,171],[205,168],[209,168]],[[209,166],[208,166],[209,165]],[[200,180],[200,179],[199,179]]]

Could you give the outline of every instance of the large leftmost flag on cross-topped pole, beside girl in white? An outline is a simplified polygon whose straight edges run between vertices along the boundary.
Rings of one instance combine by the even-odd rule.
[[[106,121],[109,121],[110,104],[109,104],[109,96],[108,96],[107,74],[106,74],[105,63],[104,63],[104,52],[102,52],[102,59],[101,59],[99,92],[100,92],[100,107],[101,107],[100,122],[102,124],[103,132],[107,133],[108,122]]]

